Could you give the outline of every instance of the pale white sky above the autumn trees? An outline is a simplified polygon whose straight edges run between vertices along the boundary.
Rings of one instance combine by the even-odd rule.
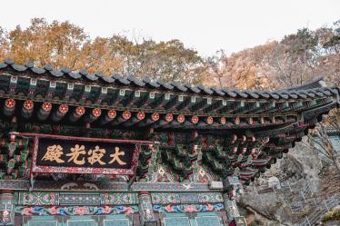
[[[207,56],[279,40],[298,28],[340,19],[340,0],[10,0],[0,25],[25,27],[33,17],[68,20],[91,37],[127,34],[181,40]]]

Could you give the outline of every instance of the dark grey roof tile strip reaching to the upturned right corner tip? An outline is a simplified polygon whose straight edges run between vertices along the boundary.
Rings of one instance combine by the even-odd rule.
[[[15,64],[13,59],[5,59],[0,63],[1,71],[13,71],[21,74],[40,75],[41,77],[47,77],[49,79],[69,80],[74,83],[91,83],[101,86],[126,86],[136,88],[149,88],[155,91],[174,91],[184,94],[203,94],[211,96],[221,97],[240,97],[250,99],[297,99],[316,96],[329,96],[339,93],[338,88],[322,87],[322,78],[318,78],[310,83],[287,88],[278,91],[241,91],[241,90],[228,90],[218,89],[214,87],[205,87],[203,85],[190,85],[190,84],[178,84],[175,82],[165,83],[162,80],[152,82],[150,79],[144,78],[140,80],[133,75],[128,77],[122,77],[119,74],[105,75],[101,72],[95,74],[88,74],[86,70],[80,70],[78,72],[72,72],[68,68],[61,68],[60,70],[54,69],[50,65],[45,65],[43,68],[37,68],[32,62],[28,62],[24,65]]]

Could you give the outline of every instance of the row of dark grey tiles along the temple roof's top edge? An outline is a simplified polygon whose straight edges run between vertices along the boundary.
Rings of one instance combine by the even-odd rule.
[[[144,78],[137,78],[134,75],[129,76],[122,76],[121,74],[111,74],[111,75],[104,75],[102,72],[95,72],[94,74],[87,74],[86,70],[77,70],[72,71],[70,69],[67,69],[65,67],[61,67],[60,69],[56,70],[51,65],[45,64],[44,67],[39,68],[34,66],[34,62],[27,62],[25,64],[15,64],[15,60],[11,58],[5,58],[3,62],[0,62],[0,70],[1,69],[7,69],[8,67],[15,70],[15,72],[25,72],[29,71],[29,73],[32,74],[49,74],[54,76],[55,78],[62,77],[64,75],[67,75],[71,79],[85,79],[89,82],[96,82],[96,83],[102,83],[102,84],[119,84],[119,85],[134,85],[136,87],[148,87],[152,89],[164,89],[169,91],[178,91],[178,92],[190,92],[190,93],[201,93],[205,95],[218,95],[218,96],[241,96],[241,97],[248,97],[252,96],[255,99],[259,98],[259,96],[269,98],[273,97],[277,99],[277,95],[281,96],[281,93],[284,93],[284,95],[289,94],[291,96],[296,96],[296,92],[302,92],[302,91],[310,91],[313,92],[314,89],[319,89],[323,85],[321,82],[323,82],[323,77],[318,77],[315,80],[308,82],[306,84],[301,84],[298,86],[285,88],[281,90],[276,91],[270,91],[270,90],[235,90],[235,89],[226,89],[226,88],[218,88],[218,87],[207,87],[200,85],[193,85],[193,84],[184,84],[184,83],[178,83],[178,82],[169,82],[165,83],[162,79],[157,79],[154,82],[150,79],[144,79]],[[331,89],[336,89],[336,92],[338,93],[339,90],[337,87],[329,87]],[[256,98],[257,97],[257,98]]]

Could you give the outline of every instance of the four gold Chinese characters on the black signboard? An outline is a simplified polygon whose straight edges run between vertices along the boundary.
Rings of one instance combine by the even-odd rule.
[[[115,147],[115,151],[109,155],[109,162],[103,161],[103,157],[105,157],[105,154],[105,149],[100,148],[99,146],[95,146],[95,149],[90,149],[86,155],[85,145],[75,144],[75,147],[70,148],[69,152],[65,153],[65,156],[68,157],[67,162],[73,162],[76,165],[84,165],[86,162],[90,163],[91,165],[95,164],[95,162],[98,162],[100,165],[112,164],[114,162],[118,163],[119,165],[126,164],[126,162],[121,160],[121,156],[125,155],[125,152],[121,151],[119,147]],[[56,163],[64,163],[65,161],[62,159],[63,155],[63,147],[54,144],[46,148],[45,155],[42,160]]]

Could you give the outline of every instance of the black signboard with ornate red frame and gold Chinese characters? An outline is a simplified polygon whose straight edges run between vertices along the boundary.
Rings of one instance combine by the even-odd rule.
[[[34,137],[31,173],[134,175],[141,145],[152,142],[22,133]]]

